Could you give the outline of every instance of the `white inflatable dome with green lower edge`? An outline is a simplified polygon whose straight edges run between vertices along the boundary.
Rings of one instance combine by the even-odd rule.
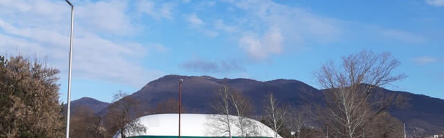
[[[147,115],[139,118],[139,122],[146,127],[145,132],[127,132],[126,137],[141,138],[176,138],[178,137],[178,114]],[[230,119],[231,135],[234,138],[242,137],[239,129],[239,118],[230,115],[205,115],[205,114],[181,114],[180,115],[180,137],[183,138],[207,138],[207,137],[229,137],[226,120]],[[271,138],[275,132],[253,119],[244,119],[244,136]],[[113,138],[120,138],[117,132]],[[278,138],[280,135],[278,135]]]

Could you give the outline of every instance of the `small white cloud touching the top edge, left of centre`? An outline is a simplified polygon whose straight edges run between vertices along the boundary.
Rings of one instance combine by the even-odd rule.
[[[176,3],[167,2],[157,6],[153,1],[139,0],[136,1],[137,12],[148,14],[154,19],[173,19],[173,10],[176,7]]]

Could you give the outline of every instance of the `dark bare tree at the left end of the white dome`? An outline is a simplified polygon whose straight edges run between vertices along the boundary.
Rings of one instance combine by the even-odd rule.
[[[108,124],[108,137],[112,137],[114,132],[119,132],[122,138],[125,138],[129,133],[145,132],[145,126],[140,123],[139,119],[135,119],[134,111],[139,106],[139,102],[122,91],[113,97],[114,103],[109,106],[105,116]]]

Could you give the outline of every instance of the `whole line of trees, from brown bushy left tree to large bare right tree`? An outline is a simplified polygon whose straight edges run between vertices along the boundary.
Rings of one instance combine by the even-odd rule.
[[[393,75],[400,62],[388,53],[362,51],[343,57],[341,64],[323,64],[314,76],[323,95],[307,91],[321,103],[284,105],[273,92],[264,95],[262,108],[255,109],[250,99],[224,85],[214,91],[214,133],[231,137],[255,135],[246,117],[275,130],[274,137],[402,137],[402,123],[386,112],[402,106],[401,95],[382,92],[380,87],[399,81]],[[64,137],[65,115],[58,101],[58,70],[37,60],[21,56],[0,57],[0,137]],[[79,107],[71,115],[70,137],[125,137],[146,129],[137,119],[144,115],[178,112],[177,99],[167,99],[153,108],[140,107],[139,101],[124,92],[114,95],[103,112]],[[186,112],[187,108],[182,108]],[[262,110],[262,115],[255,115]],[[190,111],[188,111],[190,112]],[[222,127],[221,127],[222,126]],[[223,127],[225,126],[225,127]],[[241,132],[234,134],[231,126]]]

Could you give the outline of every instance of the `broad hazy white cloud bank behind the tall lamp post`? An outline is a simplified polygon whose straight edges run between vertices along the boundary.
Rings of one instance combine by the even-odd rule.
[[[4,29],[3,26],[0,26],[0,28]],[[53,66],[62,71],[66,70],[65,61],[67,61],[69,37],[67,35],[62,36],[58,32],[50,32],[43,34],[43,36],[51,41],[41,41],[42,37],[40,36],[42,35],[38,33],[42,33],[39,30],[41,29],[13,29],[13,31],[18,32],[13,34],[29,39],[29,41],[2,34],[0,37],[0,47],[2,47],[0,52],[17,50],[17,52],[27,52],[31,55],[37,54],[37,57],[49,57]],[[28,33],[21,33],[26,31]],[[146,81],[162,75],[162,72],[158,70],[144,70],[144,68],[126,60],[127,58],[143,56],[146,50],[142,46],[114,43],[88,32],[78,33],[85,33],[83,34],[85,37],[74,37],[73,75],[76,75],[76,77],[127,83],[139,87],[144,85]],[[54,36],[60,37],[60,39],[53,39]],[[157,46],[157,48],[160,47]]]

